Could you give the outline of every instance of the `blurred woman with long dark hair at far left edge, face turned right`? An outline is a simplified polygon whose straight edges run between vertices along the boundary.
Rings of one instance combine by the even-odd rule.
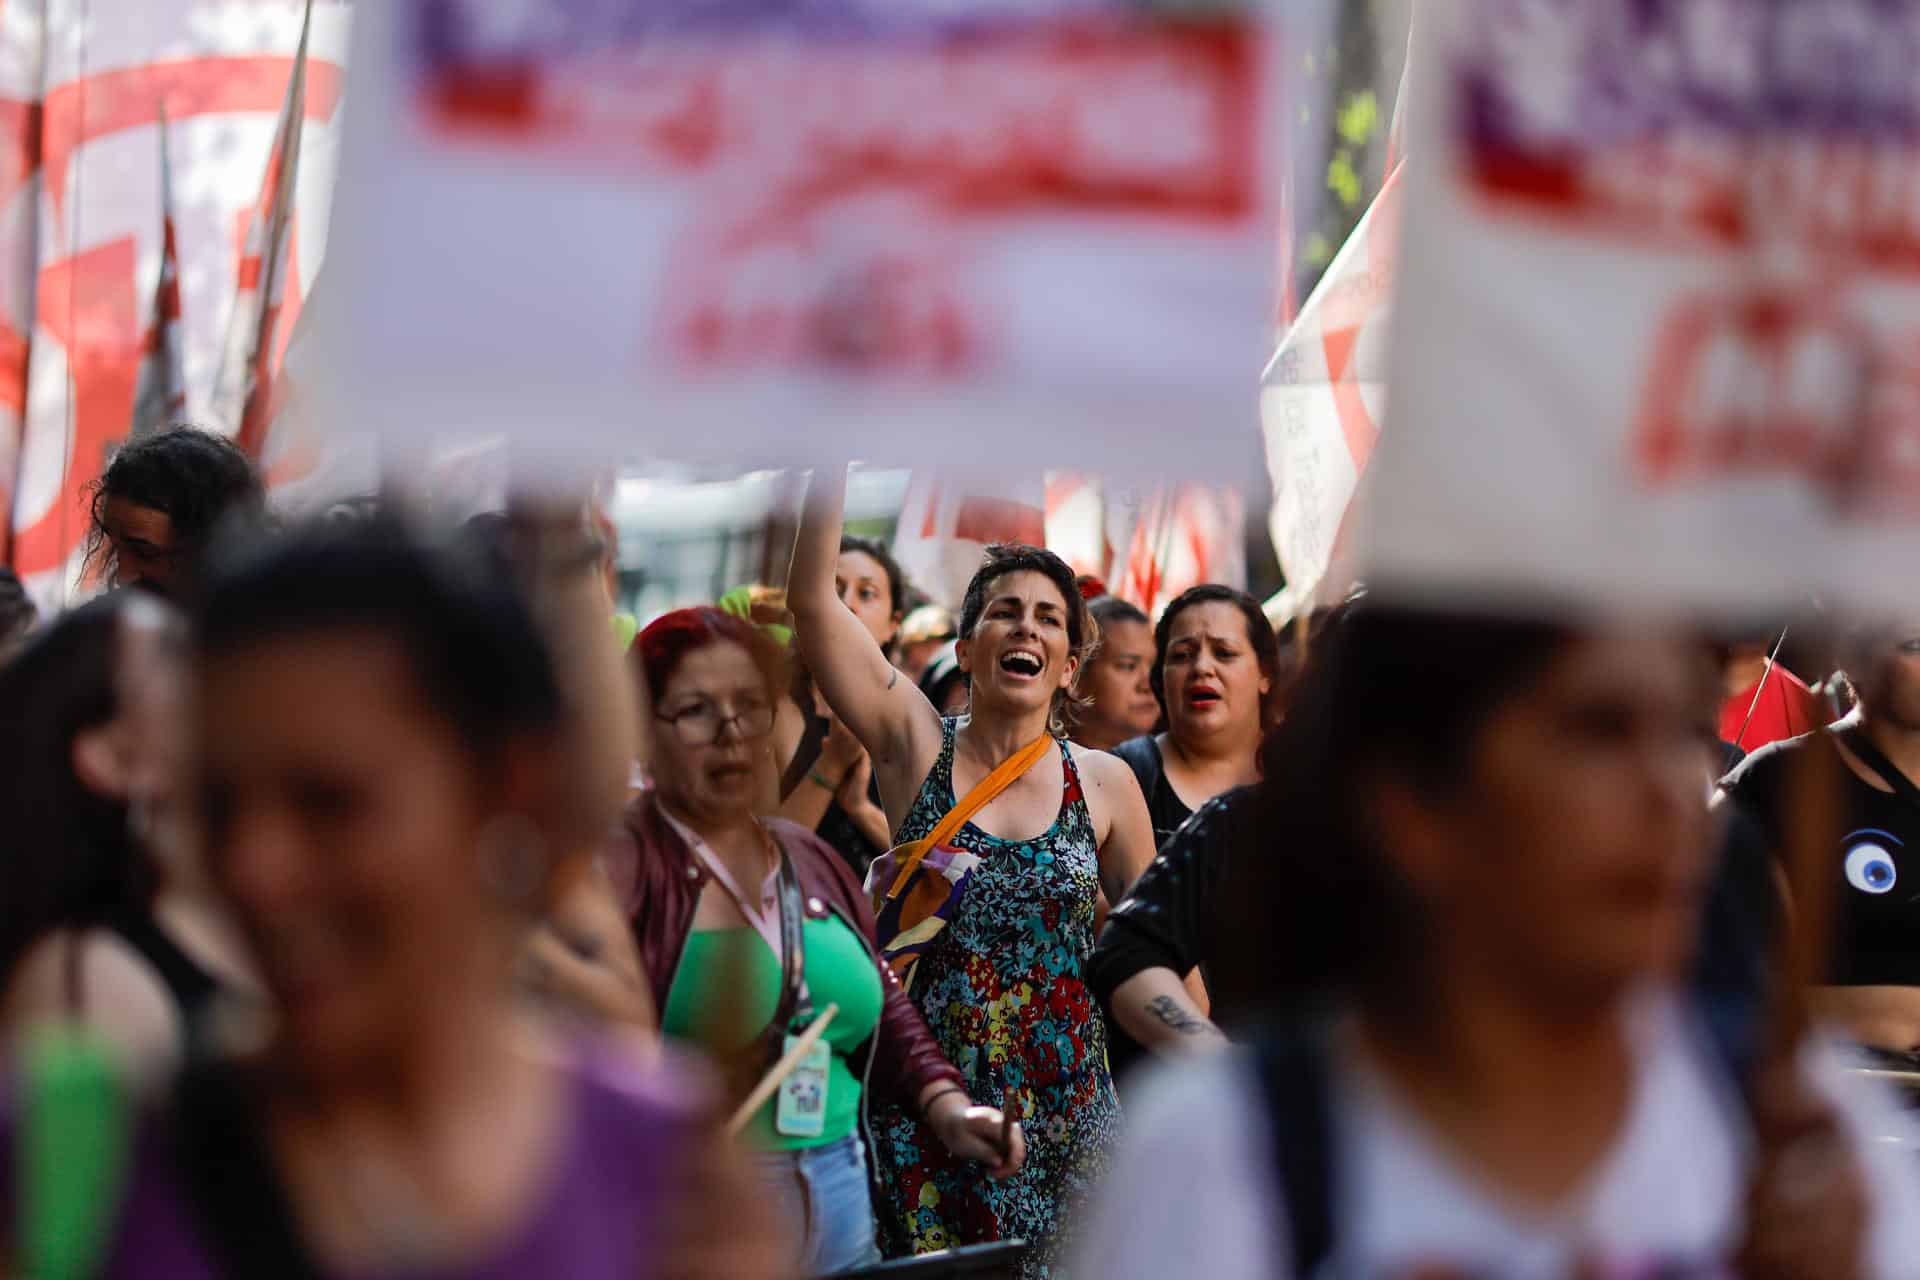
[[[0,1032],[79,1021],[140,1067],[246,963],[180,823],[186,656],[177,614],[115,593],[0,668]]]

